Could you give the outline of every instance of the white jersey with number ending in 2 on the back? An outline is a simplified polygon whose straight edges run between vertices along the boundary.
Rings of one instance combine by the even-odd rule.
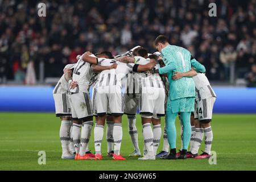
[[[77,82],[76,88],[69,88],[69,93],[88,92],[92,69],[90,63],[82,60],[80,57],[75,65],[72,79]]]

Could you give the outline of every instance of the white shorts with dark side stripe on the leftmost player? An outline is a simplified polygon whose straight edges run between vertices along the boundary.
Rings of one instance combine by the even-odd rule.
[[[53,98],[55,103],[56,117],[71,116],[71,106],[69,104],[68,94],[55,93],[53,94]]]

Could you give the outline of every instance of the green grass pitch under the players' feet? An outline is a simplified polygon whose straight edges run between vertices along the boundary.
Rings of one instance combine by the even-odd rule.
[[[0,113],[0,170],[255,170],[256,115],[214,114],[213,147],[217,164],[208,159],[139,161],[129,158],[133,146],[123,115],[121,153],[127,161],[63,160],[59,140],[60,119],[53,113]],[[163,122],[163,118],[162,118]],[[179,122],[177,148],[180,147]],[[141,119],[137,117],[139,146],[143,149]],[[163,142],[160,142],[159,151]],[[203,150],[204,144],[200,149]],[[94,151],[93,133],[90,149]],[[46,151],[46,165],[38,164],[38,151]],[[106,138],[102,143],[106,155]]]

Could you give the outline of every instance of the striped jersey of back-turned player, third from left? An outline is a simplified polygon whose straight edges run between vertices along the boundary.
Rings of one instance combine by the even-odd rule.
[[[100,73],[96,86],[112,86],[118,85],[122,87],[122,78],[133,71],[133,63],[121,63],[114,59],[98,58],[98,64],[109,66],[116,63],[116,69],[106,69]]]

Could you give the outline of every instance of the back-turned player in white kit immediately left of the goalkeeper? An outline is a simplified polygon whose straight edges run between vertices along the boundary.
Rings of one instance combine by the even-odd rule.
[[[139,48],[137,56],[123,57],[120,61],[146,65],[150,60],[145,59],[145,57],[155,60],[158,56],[148,56],[146,49]],[[154,160],[162,135],[160,117],[164,116],[164,85],[159,75],[141,73],[139,78],[141,78],[140,82],[142,83],[139,107],[142,117],[144,146],[147,150],[147,154],[139,160]],[[153,130],[151,123],[153,124]]]

